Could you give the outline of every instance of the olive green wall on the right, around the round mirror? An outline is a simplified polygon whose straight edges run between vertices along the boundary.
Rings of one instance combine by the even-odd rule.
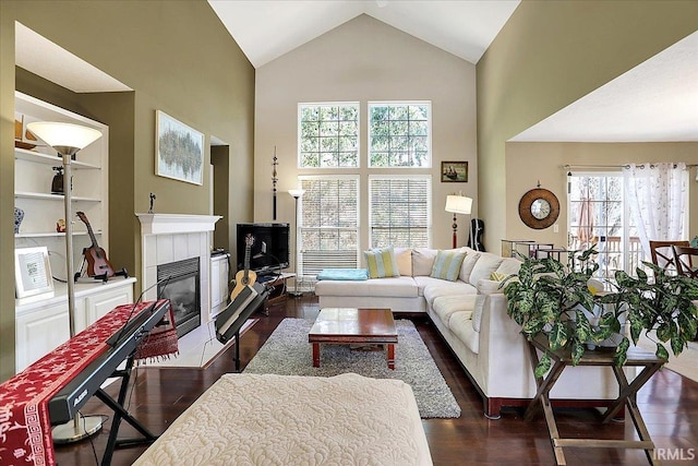
[[[695,1],[519,4],[477,67],[478,201],[485,244],[492,248],[520,231],[513,225],[518,222],[513,214],[520,194],[515,192],[520,191],[517,180],[527,177],[530,188],[538,179],[543,187],[559,180],[554,163],[539,158],[510,164],[506,141],[696,29]],[[566,163],[576,162],[568,158]],[[610,151],[604,163],[614,160],[619,157]],[[521,167],[527,170],[521,172]],[[545,235],[528,229],[526,237]]]

